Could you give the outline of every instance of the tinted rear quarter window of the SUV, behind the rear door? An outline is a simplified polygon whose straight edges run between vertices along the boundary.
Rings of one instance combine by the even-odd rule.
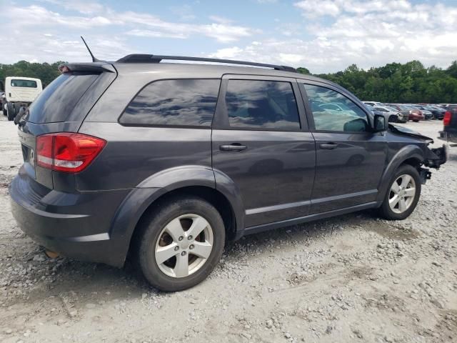
[[[220,80],[156,81],[131,101],[121,124],[211,126]]]

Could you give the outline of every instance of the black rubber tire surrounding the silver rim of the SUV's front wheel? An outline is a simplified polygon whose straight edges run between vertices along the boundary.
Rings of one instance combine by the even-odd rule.
[[[389,198],[391,197],[391,187],[393,185],[393,182],[396,182],[396,179],[398,177],[401,177],[401,175],[406,174],[409,175],[413,178],[414,183],[415,183],[415,188],[416,188],[416,194],[414,194],[413,201],[411,202],[411,205],[406,209],[405,212],[402,213],[396,213],[393,212],[391,207],[389,206]],[[381,217],[384,219],[388,220],[403,220],[409,217],[409,215],[414,211],[416,208],[416,205],[419,201],[419,197],[421,197],[421,177],[419,176],[419,172],[417,171],[416,168],[413,166],[410,166],[409,164],[402,164],[401,166],[398,167],[397,171],[395,174],[393,174],[393,177],[391,178],[391,181],[389,182],[388,185],[388,190],[386,192],[386,196],[384,197],[383,204],[379,208],[379,212],[381,214]]]

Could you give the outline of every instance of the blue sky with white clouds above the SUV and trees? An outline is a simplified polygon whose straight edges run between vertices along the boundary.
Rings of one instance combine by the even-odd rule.
[[[327,73],[457,59],[457,0],[0,0],[0,63],[209,56]]]

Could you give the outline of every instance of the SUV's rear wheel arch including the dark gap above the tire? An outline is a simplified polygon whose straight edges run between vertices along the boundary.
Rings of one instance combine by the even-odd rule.
[[[235,239],[236,232],[244,227],[244,209],[238,192],[233,180],[207,166],[166,169],[131,190],[111,222],[110,238],[123,242],[124,251],[117,253],[125,261],[141,221],[161,202],[179,195],[191,195],[201,197],[216,207],[224,220],[227,237]]]

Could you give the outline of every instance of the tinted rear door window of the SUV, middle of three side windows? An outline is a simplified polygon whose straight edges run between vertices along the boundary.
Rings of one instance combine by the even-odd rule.
[[[300,129],[292,85],[286,81],[229,80],[226,91],[229,124],[240,129]]]

